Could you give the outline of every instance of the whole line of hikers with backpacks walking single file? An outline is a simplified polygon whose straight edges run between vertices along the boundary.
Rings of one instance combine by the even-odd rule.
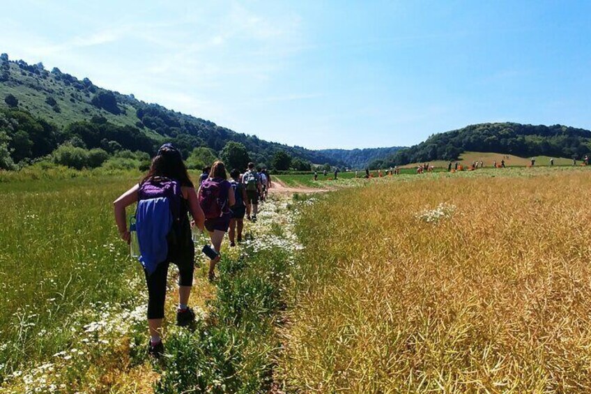
[[[213,250],[206,245],[204,252],[210,257],[208,279],[213,281],[225,234],[229,233],[231,247],[243,241],[245,216],[256,221],[259,200],[267,199],[272,185],[266,169],[257,171],[252,162],[243,174],[232,169],[229,178],[224,163],[217,160],[204,168],[196,189],[180,151],[172,144],[164,144],[153,158],[148,174],[114,202],[119,236],[127,243],[137,236],[139,243],[138,259],[148,287],[148,354],[155,358],[164,353],[161,329],[169,265],[178,267],[176,324],[188,326],[195,319],[188,305],[195,265],[193,234],[209,234]],[[132,234],[125,209],[135,203]],[[207,253],[206,248],[211,252]]]

